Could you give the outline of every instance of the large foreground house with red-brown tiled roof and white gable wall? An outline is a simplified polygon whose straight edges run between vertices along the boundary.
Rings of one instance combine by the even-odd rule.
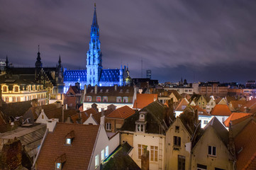
[[[119,145],[119,134],[108,139],[101,125],[56,123],[45,133],[35,169],[100,169]]]

